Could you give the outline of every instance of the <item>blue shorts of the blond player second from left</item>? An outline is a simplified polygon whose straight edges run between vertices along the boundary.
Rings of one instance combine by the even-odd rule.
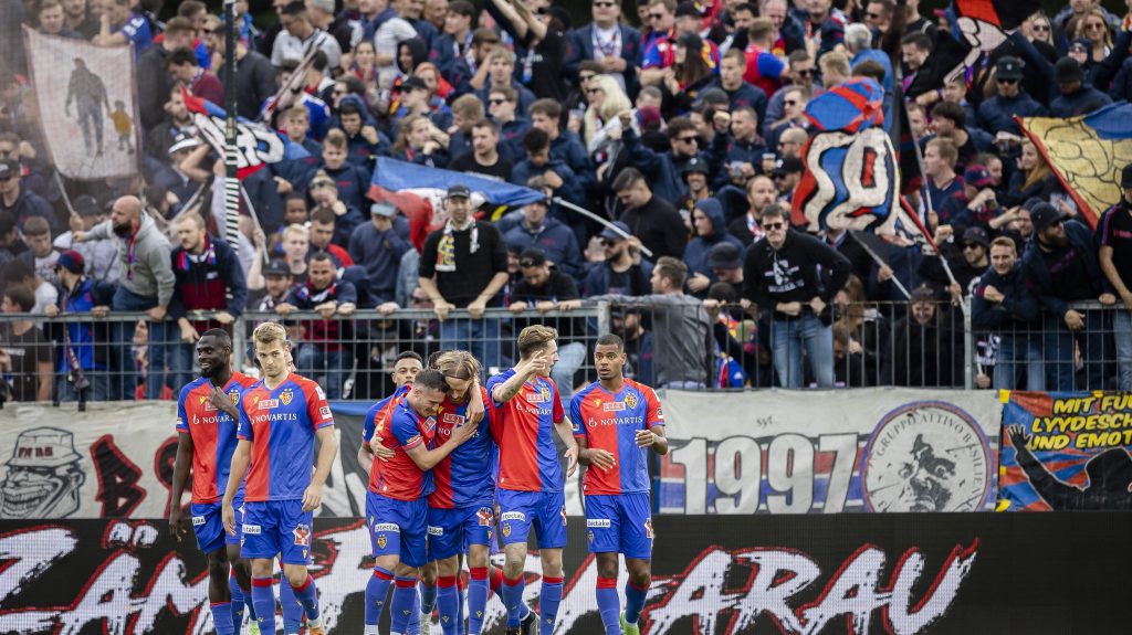
[[[264,501],[243,504],[245,558],[275,558],[288,565],[310,562],[314,512],[302,511],[302,501]]]

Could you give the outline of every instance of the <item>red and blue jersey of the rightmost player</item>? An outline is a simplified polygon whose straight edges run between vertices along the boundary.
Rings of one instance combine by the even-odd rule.
[[[625,380],[617,393],[594,382],[569,402],[574,436],[584,437],[590,447],[612,453],[617,467],[585,471],[585,494],[629,494],[649,492],[646,447],[636,444],[637,430],[664,425],[660,400],[651,388]]]

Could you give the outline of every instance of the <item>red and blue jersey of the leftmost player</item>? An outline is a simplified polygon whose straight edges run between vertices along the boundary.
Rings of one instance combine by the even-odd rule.
[[[232,373],[224,392],[239,405],[243,391],[255,383],[252,377]],[[215,503],[224,496],[239,426],[231,415],[213,406],[212,392],[213,383],[198,377],[181,389],[177,403],[177,432],[192,438],[192,502],[198,504]]]

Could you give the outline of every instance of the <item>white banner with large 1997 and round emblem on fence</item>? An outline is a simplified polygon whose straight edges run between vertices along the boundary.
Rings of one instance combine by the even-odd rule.
[[[661,513],[974,512],[995,502],[989,391],[664,391]]]

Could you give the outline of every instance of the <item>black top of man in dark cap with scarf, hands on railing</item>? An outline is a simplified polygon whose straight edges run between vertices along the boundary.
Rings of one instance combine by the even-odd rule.
[[[477,250],[472,252],[472,234]],[[443,254],[443,255],[441,255]],[[498,272],[507,271],[507,244],[495,225],[477,220],[463,232],[437,229],[424,240],[420,277],[436,277],[436,286],[456,307],[472,303]],[[496,294],[488,306],[500,306],[503,294]]]

